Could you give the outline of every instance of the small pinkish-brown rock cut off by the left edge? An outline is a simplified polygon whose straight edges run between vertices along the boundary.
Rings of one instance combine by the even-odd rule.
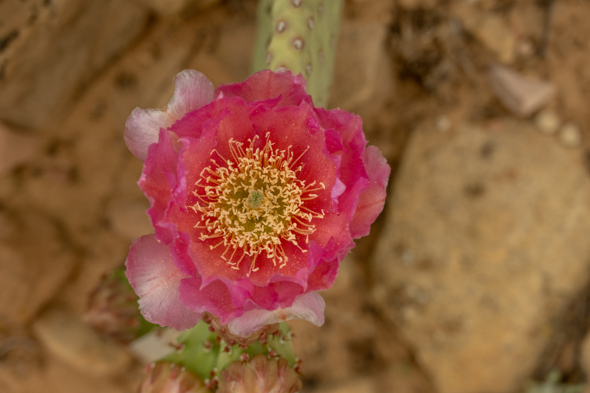
[[[17,134],[0,123],[0,174],[30,160],[39,146],[37,138]]]

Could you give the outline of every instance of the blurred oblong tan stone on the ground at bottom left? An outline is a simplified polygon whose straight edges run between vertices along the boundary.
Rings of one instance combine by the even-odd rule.
[[[33,329],[51,354],[84,374],[109,377],[130,365],[122,347],[101,338],[80,316],[53,310],[35,321]]]

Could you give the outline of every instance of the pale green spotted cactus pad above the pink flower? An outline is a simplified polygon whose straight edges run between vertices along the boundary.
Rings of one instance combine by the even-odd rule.
[[[332,83],[342,0],[260,0],[253,71],[301,73],[314,104],[324,107]]]

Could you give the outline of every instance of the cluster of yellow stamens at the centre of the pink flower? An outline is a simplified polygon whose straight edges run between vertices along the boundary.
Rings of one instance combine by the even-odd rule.
[[[221,257],[232,269],[240,269],[245,255],[253,257],[248,276],[258,270],[255,260],[263,251],[274,266],[277,262],[279,268],[286,266],[289,258],[283,250],[284,241],[307,252],[297,242],[297,235],[305,236],[308,243],[309,235],[316,230],[312,219],[324,217],[323,210],[314,212],[305,203],[317,197],[313,191],[326,186],[319,183],[319,187],[314,187],[315,181],[306,185],[305,180],[297,178],[303,166],[296,163],[309,146],[294,160],[291,146],[287,150],[273,150],[268,135],[261,149],[254,149],[258,136],[248,139],[250,147],[246,148],[231,138],[233,160],[226,160],[214,150],[224,165],[211,159],[213,164],[201,171],[195,183],[201,188],[194,191],[199,202],[191,206],[201,214],[195,225],[201,229],[199,239],[219,238],[217,244],[209,247],[224,245]]]

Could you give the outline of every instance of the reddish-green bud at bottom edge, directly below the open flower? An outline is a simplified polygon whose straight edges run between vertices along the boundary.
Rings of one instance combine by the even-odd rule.
[[[286,359],[260,354],[222,370],[217,393],[294,393],[300,389],[301,379]]]

